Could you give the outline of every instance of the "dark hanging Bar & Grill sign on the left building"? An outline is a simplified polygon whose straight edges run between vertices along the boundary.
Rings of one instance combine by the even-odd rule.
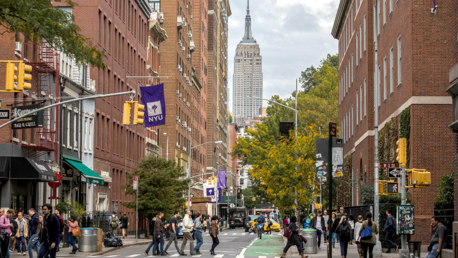
[[[41,108],[40,104],[25,105],[25,106],[13,106],[11,108],[11,119],[18,118],[23,114],[34,111]],[[26,117],[20,118],[17,121],[11,123],[12,129],[24,129],[34,128],[43,126],[43,111],[32,113]]]

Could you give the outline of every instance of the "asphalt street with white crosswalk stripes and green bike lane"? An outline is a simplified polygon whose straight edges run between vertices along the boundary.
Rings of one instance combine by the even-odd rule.
[[[189,255],[189,243],[186,244],[185,253],[188,256],[180,256],[172,243],[167,252],[169,255],[165,257],[213,257],[213,258],[249,258],[249,257],[279,257],[283,243],[281,241],[280,233],[275,232],[272,235],[264,235],[262,239],[258,239],[256,234],[246,233],[244,228],[236,228],[235,230],[225,230],[218,235],[220,244],[215,248],[216,255],[210,254],[212,239],[208,232],[203,233],[204,244],[201,246],[202,255]],[[165,241],[165,245],[167,244]],[[279,243],[276,243],[279,242]],[[256,244],[255,244],[256,243]],[[182,240],[178,240],[178,247],[181,248]],[[194,246],[196,240],[194,240]],[[164,245],[164,248],[165,248]],[[273,248],[275,245],[280,245],[280,248]],[[131,247],[121,248],[105,255],[91,256],[91,257],[147,257],[144,250],[148,247],[145,245],[135,245]],[[162,257],[152,256],[153,250],[150,250],[148,257]],[[245,254],[246,252],[246,254]]]

